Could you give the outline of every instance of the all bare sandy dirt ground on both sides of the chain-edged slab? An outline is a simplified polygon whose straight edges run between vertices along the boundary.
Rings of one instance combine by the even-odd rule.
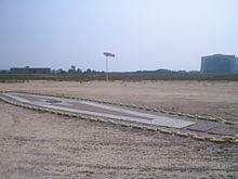
[[[238,120],[237,81],[27,81],[30,91]],[[39,113],[0,101],[0,178],[238,178],[238,145]]]

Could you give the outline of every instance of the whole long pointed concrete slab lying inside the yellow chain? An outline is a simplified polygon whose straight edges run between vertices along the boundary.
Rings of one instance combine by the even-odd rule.
[[[4,93],[4,95],[13,100],[16,100],[18,102],[24,102],[42,107],[71,112],[71,113],[94,115],[101,117],[108,117],[113,119],[120,119],[127,122],[143,123],[147,125],[164,126],[172,128],[184,128],[195,124],[194,122],[175,119],[171,117],[160,116],[159,114],[155,115],[155,114],[146,113],[144,111],[138,112],[133,108],[124,108],[121,106],[113,106],[113,105],[102,104],[91,101],[72,100],[72,99],[64,99],[64,98],[55,98],[55,97],[47,97],[47,95],[36,95],[36,94],[25,94],[25,93]],[[49,104],[49,102],[53,102],[53,103]],[[60,106],[57,105],[58,103],[63,105]],[[80,108],[80,105],[81,106],[87,105],[90,110],[83,107]],[[77,106],[77,108],[75,106]],[[95,108],[102,108],[104,110],[104,112],[98,112]],[[110,113],[109,111],[114,113],[117,112],[117,115]],[[127,114],[128,116],[124,116],[124,114]]]

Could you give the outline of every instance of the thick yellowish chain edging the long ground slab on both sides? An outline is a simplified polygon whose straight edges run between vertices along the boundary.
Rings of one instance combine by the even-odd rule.
[[[32,93],[32,92],[22,92],[22,93],[49,95],[49,97],[60,97],[60,95]],[[140,107],[140,108],[144,108],[144,110],[147,110],[147,111],[154,111],[154,112],[155,112],[155,110],[157,110],[157,108],[150,108],[150,107],[130,105],[130,104],[116,104],[116,103],[110,103],[110,102],[106,102],[106,101],[97,101],[97,100],[93,100],[93,99],[80,99],[80,98],[76,98],[76,97],[66,97],[66,95],[64,95],[64,97],[60,97],[60,98],[76,99],[76,100],[88,100],[88,101],[94,101],[94,102],[101,102],[101,103],[114,104],[114,105],[120,105],[120,106],[127,106],[127,107],[133,107],[133,108],[138,108]],[[53,113],[53,114],[68,116],[68,117],[77,117],[77,118],[80,118],[80,119],[89,119],[89,120],[94,120],[94,122],[100,122],[100,123],[108,123],[108,124],[111,124],[111,125],[120,125],[120,126],[123,126],[123,127],[131,127],[131,128],[134,128],[134,129],[143,129],[143,130],[148,130],[148,131],[159,131],[161,133],[174,135],[174,136],[180,136],[180,137],[185,137],[185,138],[193,138],[193,139],[197,139],[197,140],[203,140],[203,141],[238,143],[238,137],[230,137],[230,136],[224,136],[222,138],[214,138],[214,137],[211,137],[211,136],[201,137],[201,136],[197,136],[196,133],[181,132],[181,131],[177,131],[177,130],[163,129],[163,128],[159,128],[159,127],[153,128],[153,127],[149,127],[149,126],[140,126],[140,125],[135,125],[135,124],[120,123],[120,122],[104,119],[102,117],[94,117],[94,116],[89,116],[89,115],[83,115],[83,114],[72,114],[72,113],[67,113],[67,112],[60,112],[60,111],[50,110],[50,108],[47,108],[47,107],[39,107],[39,106],[36,106],[36,105],[29,105],[29,104],[15,102],[15,101],[12,101],[12,100],[9,100],[9,99],[4,98],[3,95],[0,95],[0,100],[6,102],[9,104],[16,105],[16,106],[22,106],[22,107],[29,108],[29,110],[42,111],[42,112]],[[160,112],[160,110],[158,110],[156,112]],[[168,111],[164,111],[164,112],[168,113]],[[173,114],[175,114],[175,113],[173,113]],[[180,114],[182,114],[182,113],[180,113]],[[194,116],[197,116],[197,115],[190,115],[190,114],[188,115],[188,117],[195,118]],[[211,119],[212,119],[212,122],[224,123],[224,119],[221,119],[221,118],[219,120],[213,120],[214,118],[209,117],[208,120],[211,120]],[[229,123],[229,125],[237,125],[237,124],[236,123]]]

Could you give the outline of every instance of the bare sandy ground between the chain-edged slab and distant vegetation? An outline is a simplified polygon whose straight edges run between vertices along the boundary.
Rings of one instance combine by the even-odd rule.
[[[4,90],[72,94],[238,120],[237,81],[116,81],[108,85],[104,81],[0,84],[0,91]]]

